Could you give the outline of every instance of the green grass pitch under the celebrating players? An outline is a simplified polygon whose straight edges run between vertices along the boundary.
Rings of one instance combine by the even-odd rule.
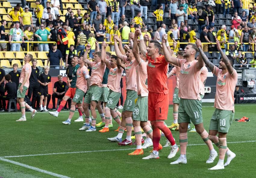
[[[227,146],[236,153],[236,158],[224,170],[217,171],[208,170],[217,164],[218,157],[212,164],[205,163],[209,157],[208,147],[197,133],[188,133],[188,163],[170,165],[179,157],[180,152],[174,158],[167,159],[170,148],[163,148],[159,152],[160,159],[142,160],[152,148],[144,149],[144,155],[130,156],[127,154],[135,146],[122,147],[109,142],[107,138],[117,134],[114,132],[117,128],[115,121],[110,132],[99,133],[98,128],[96,132],[79,131],[83,123],[74,122],[78,112],[75,112],[71,125],[61,123],[67,119],[67,111],[61,112],[58,118],[38,112],[34,119],[30,119],[30,113],[27,112],[25,122],[15,121],[20,118],[20,112],[0,113],[0,177],[255,177],[255,106],[235,105],[235,118],[246,116],[251,121],[233,121]],[[202,110],[204,127],[208,131],[214,112],[213,103],[203,103]],[[173,121],[172,112],[170,107],[167,125]],[[99,121],[98,116],[97,123]],[[178,132],[172,131],[172,134],[179,145]],[[126,133],[123,135],[125,137]],[[164,145],[165,142],[162,136],[160,143]],[[217,149],[216,146],[214,148]]]

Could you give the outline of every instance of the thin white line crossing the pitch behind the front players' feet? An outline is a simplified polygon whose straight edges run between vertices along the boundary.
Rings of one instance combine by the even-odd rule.
[[[250,141],[240,141],[240,142],[227,142],[228,144],[233,143],[251,143],[256,142],[256,140],[250,140]],[[199,145],[205,145],[205,143],[199,143],[199,144],[188,144],[188,146],[199,146]],[[180,146],[180,145],[178,145]],[[45,154],[36,154],[36,155],[17,155],[17,156],[2,156],[0,158],[20,158],[20,157],[27,157],[27,156],[44,156],[44,155],[61,155],[61,154],[74,154],[74,153],[93,153],[93,152],[113,152],[113,151],[124,151],[124,150],[132,150],[134,148],[128,148],[128,149],[107,149],[107,150],[92,150],[92,151],[80,151],[80,152],[60,152],[60,153],[45,153]]]

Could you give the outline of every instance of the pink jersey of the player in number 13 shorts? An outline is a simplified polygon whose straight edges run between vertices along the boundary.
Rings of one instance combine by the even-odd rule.
[[[136,60],[127,60],[127,56],[125,55],[123,55],[123,60],[125,62],[126,90],[137,91],[136,66],[138,63]]]

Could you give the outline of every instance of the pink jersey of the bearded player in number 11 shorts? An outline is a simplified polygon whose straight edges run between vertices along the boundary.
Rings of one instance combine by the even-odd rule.
[[[183,99],[201,100],[199,94],[201,69],[196,68],[197,62],[197,60],[187,62],[186,59],[177,59],[180,66],[179,97]]]

